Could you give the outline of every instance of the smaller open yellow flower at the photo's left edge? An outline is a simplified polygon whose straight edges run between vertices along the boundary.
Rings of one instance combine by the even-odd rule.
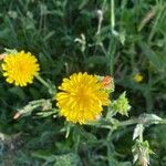
[[[3,76],[8,83],[27,86],[40,71],[38,60],[24,51],[7,54],[2,63]]]

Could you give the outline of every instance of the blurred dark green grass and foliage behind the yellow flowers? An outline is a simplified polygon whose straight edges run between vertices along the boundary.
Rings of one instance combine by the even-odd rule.
[[[129,117],[166,108],[165,0],[1,0],[0,51],[25,50],[37,55],[41,75],[59,84],[73,72],[115,79],[114,97],[127,91]],[[76,40],[75,40],[76,39]],[[141,73],[141,83],[133,76]],[[19,121],[19,107],[49,97],[37,81],[28,87],[8,85],[0,75],[0,165],[129,166],[134,126],[112,133],[75,126],[65,138],[64,121]],[[120,116],[120,120],[124,117]],[[166,126],[145,131],[155,152],[152,166],[166,165]]]

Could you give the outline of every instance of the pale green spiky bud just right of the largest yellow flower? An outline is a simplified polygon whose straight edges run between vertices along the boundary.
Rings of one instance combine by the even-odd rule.
[[[118,98],[112,103],[111,108],[122,115],[128,115],[131,105],[128,103],[128,98],[126,97],[126,92],[122,93]]]

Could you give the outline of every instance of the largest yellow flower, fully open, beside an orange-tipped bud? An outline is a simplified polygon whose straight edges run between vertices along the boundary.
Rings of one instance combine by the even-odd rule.
[[[87,73],[74,73],[70,79],[63,79],[55,96],[60,114],[66,121],[85,124],[97,120],[103,111],[102,105],[108,105],[108,93],[97,76]]]

